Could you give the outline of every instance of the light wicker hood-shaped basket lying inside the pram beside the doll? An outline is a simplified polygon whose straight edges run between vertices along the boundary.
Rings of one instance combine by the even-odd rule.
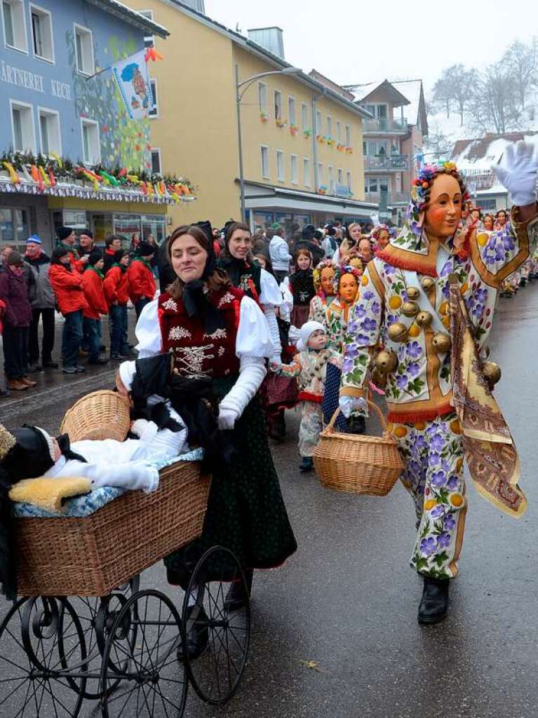
[[[65,412],[60,426],[72,442],[81,439],[116,439],[123,442],[129,433],[129,404],[116,391],[103,389],[80,398]]]

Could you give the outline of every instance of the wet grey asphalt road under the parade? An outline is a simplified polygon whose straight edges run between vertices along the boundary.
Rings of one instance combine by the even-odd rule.
[[[298,416],[288,412],[289,439],[273,445],[273,453],[299,549],[281,569],[255,576],[251,656],[236,696],[214,708],[191,691],[185,715],[538,714],[537,283],[501,300],[496,320],[491,354],[504,370],[496,393],[519,448],[529,509],[515,521],[470,488],[460,576],[445,623],[417,624],[422,584],[408,567],[414,511],[407,493],[400,485],[386,498],[320,488],[315,475],[297,470]],[[52,381],[24,401],[2,400],[0,420],[39,421],[55,430],[65,408],[111,377],[106,368],[99,376]],[[143,574],[142,585],[162,587],[163,579],[159,565]],[[0,602],[0,617],[5,610]],[[92,704],[80,713],[98,714]]]

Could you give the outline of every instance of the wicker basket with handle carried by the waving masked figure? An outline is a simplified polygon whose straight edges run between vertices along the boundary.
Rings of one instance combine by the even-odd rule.
[[[385,496],[402,473],[404,462],[385,417],[371,401],[368,406],[379,415],[382,437],[336,432],[334,424],[340,409],[321,432],[314,449],[314,466],[323,486],[335,491]]]

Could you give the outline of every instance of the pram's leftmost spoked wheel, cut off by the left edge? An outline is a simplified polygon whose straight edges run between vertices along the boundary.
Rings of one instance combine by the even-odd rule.
[[[76,718],[85,691],[78,616],[65,598],[22,598],[0,625],[0,714],[17,718]]]

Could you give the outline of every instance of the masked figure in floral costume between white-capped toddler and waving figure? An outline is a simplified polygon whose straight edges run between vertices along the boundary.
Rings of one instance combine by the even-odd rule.
[[[352,264],[344,264],[335,269],[333,282],[336,298],[327,307],[324,322],[327,329],[327,348],[330,350],[330,363],[327,368],[325,396],[322,404],[325,424],[328,424],[338,409],[345,335],[348,332],[351,307],[356,301],[361,285],[361,274],[361,269]],[[335,426],[340,432],[364,432],[365,422],[362,416],[354,417],[350,424],[351,426],[348,426],[348,421],[343,414],[340,414],[335,421]]]

